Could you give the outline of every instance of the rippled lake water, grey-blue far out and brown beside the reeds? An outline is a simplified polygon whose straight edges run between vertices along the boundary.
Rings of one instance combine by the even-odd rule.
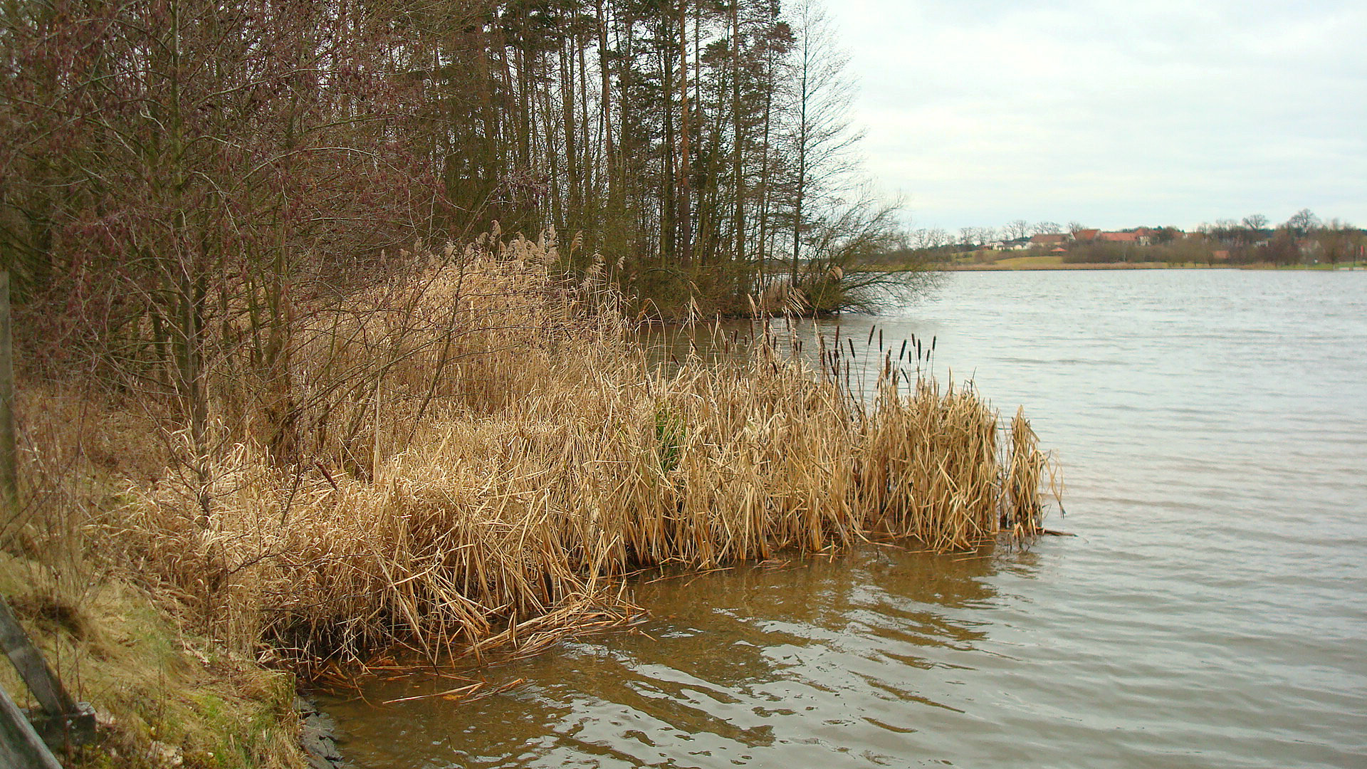
[[[347,758],[1367,766],[1367,272],[961,272],[838,323],[1025,405],[1077,536],[640,584],[648,635],[485,672],[506,694],[327,701]]]

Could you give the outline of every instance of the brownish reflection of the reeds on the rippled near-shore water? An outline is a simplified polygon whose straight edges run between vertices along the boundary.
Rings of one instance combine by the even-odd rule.
[[[913,709],[964,712],[924,690],[917,670],[969,668],[987,638],[975,614],[998,599],[986,577],[1003,564],[1031,568],[1025,554],[991,549],[868,546],[641,579],[634,592],[651,606],[648,623],[487,670],[493,684],[532,681],[504,695],[325,705],[358,766],[807,765],[813,750],[830,751],[827,764],[863,764],[919,729]],[[376,683],[365,698],[439,686],[448,684]],[[848,732],[856,721],[863,736]],[[886,738],[868,739],[869,727]]]

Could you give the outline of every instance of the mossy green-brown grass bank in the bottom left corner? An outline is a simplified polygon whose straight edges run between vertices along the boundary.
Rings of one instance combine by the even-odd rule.
[[[66,686],[97,707],[101,742],[59,753],[64,766],[303,766],[293,675],[186,627],[167,591],[66,566],[0,554],[0,592]],[[10,665],[0,686],[21,702],[27,694]]]

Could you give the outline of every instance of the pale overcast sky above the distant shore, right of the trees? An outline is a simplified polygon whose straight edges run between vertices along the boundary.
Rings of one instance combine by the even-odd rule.
[[[1367,1],[826,1],[913,227],[1367,226]]]

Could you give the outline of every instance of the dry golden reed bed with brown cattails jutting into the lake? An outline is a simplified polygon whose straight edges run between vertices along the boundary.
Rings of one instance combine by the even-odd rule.
[[[130,484],[108,525],[219,638],[313,672],[394,642],[536,650],[622,621],[606,577],[642,566],[1038,531],[1047,460],[1021,416],[999,450],[972,389],[906,384],[889,346],[865,402],[839,339],[813,369],[768,331],[744,363],[666,371],[608,294],[517,248],[310,315],[291,461],[224,395],[241,427],[211,488]]]

